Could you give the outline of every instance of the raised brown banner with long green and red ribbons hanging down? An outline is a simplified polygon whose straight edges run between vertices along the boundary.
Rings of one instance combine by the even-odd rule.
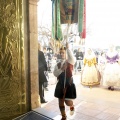
[[[86,37],[86,0],[52,0],[52,37],[62,40],[61,24],[78,23],[78,32]]]

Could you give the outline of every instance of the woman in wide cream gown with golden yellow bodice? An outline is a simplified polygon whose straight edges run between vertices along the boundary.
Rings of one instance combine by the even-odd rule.
[[[83,63],[84,68],[81,75],[81,84],[89,87],[99,85],[96,56],[90,48],[85,53]]]

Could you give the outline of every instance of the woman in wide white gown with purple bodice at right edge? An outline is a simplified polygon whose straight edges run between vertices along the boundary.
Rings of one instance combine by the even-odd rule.
[[[106,53],[106,61],[103,85],[107,86],[109,90],[114,90],[114,87],[120,87],[119,55],[115,50],[114,45],[110,45],[109,50]]]

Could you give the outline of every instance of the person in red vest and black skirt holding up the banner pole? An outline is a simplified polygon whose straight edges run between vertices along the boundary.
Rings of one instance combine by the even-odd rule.
[[[67,59],[66,59],[67,53]],[[74,113],[74,105],[72,99],[76,98],[76,87],[73,83],[72,70],[75,64],[75,59],[73,54],[68,49],[68,44],[66,48],[60,48],[61,62],[55,65],[53,74],[57,77],[57,84],[55,88],[55,97],[58,98],[59,109],[62,115],[61,120],[66,120],[65,105],[70,106],[70,114]]]

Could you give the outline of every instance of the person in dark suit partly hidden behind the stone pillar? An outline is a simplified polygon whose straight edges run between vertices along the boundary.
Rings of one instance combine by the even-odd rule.
[[[39,95],[41,103],[46,103],[44,98],[44,83],[48,82],[45,76],[47,71],[47,62],[45,60],[44,53],[41,51],[41,45],[38,43],[38,70],[39,70]]]

